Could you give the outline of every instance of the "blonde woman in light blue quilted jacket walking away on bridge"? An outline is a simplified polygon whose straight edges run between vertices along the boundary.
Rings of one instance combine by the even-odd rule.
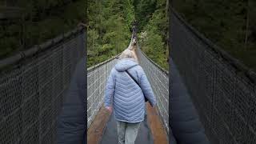
[[[104,106],[110,112],[114,109],[118,143],[134,144],[140,123],[144,121],[145,99],[153,107],[156,99],[144,70],[135,60],[134,51],[126,49],[120,58],[107,80]]]

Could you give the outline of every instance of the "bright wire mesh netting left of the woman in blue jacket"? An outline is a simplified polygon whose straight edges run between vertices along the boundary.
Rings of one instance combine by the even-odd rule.
[[[87,70],[87,128],[102,106],[106,80],[118,59],[112,58]]]

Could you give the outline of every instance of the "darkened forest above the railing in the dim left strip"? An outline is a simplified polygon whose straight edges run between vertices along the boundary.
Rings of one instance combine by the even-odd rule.
[[[1,1],[0,59],[73,30],[85,7],[85,0]]]

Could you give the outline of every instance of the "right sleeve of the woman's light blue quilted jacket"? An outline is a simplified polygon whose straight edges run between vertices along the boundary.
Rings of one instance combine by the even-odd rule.
[[[140,85],[142,87],[143,94],[149,100],[150,105],[155,106],[156,105],[156,99],[154,97],[153,90],[150,86],[150,82],[146,78],[146,74],[144,73],[144,70],[142,70],[142,76],[140,78]]]

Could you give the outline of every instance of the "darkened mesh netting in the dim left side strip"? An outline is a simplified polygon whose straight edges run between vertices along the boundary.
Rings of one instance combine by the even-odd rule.
[[[57,116],[85,33],[23,58],[0,76],[0,143],[56,143]]]

